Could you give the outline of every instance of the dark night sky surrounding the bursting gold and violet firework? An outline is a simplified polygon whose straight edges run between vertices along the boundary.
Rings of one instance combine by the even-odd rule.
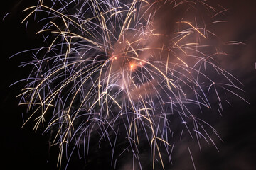
[[[0,4],[0,130],[3,134],[0,153],[1,166],[4,169],[57,169],[58,155],[54,148],[49,152],[48,136],[41,135],[40,130],[33,132],[33,125],[29,123],[21,128],[22,113],[26,112],[26,108],[18,106],[16,96],[23,84],[9,87],[15,81],[28,76],[29,68],[18,66],[21,62],[30,60],[31,55],[17,55],[11,59],[9,57],[23,50],[41,47],[42,39],[35,35],[40,26],[36,22],[29,22],[28,29],[25,30],[26,23],[21,24],[25,17],[21,11],[33,3],[34,1],[9,0]],[[223,116],[213,125],[224,141],[218,145],[220,152],[209,146],[202,153],[192,154],[196,169],[256,169],[256,1],[225,0],[220,1],[220,4],[229,10],[223,18],[228,23],[216,28],[216,33],[223,40],[236,40],[246,44],[229,47],[227,50],[230,60],[221,64],[242,81],[242,89],[245,90],[242,96],[250,105],[234,99],[231,106],[225,106]],[[9,15],[4,18],[6,13]],[[104,155],[99,157],[107,158]],[[102,162],[104,165],[92,160],[87,169],[107,169],[107,161]],[[193,169],[193,166],[186,168],[186,164],[191,165],[189,157],[188,160],[174,160],[174,165],[167,169]],[[70,169],[76,169],[75,167],[78,166],[70,166]]]

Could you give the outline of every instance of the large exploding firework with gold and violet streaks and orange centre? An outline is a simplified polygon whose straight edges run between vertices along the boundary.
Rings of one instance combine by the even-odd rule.
[[[156,161],[163,169],[172,162],[184,136],[199,149],[202,141],[215,145],[210,136],[218,134],[201,113],[221,113],[224,92],[240,90],[218,64],[226,54],[208,30],[224,8],[206,1],[40,0],[24,12],[23,22],[34,16],[43,23],[37,34],[46,43],[23,63],[33,66],[19,95],[30,113],[24,125],[33,119],[35,131],[50,131],[59,165],[77,148],[86,158],[91,141],[110,146],[112,166],[132,154],[140,169],[140,144],[149,145],[153,169]]]

